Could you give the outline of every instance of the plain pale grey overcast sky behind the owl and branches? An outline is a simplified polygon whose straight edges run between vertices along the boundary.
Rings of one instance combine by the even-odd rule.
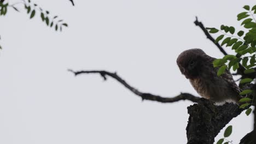
[[[9,1],[17,2],[17,1]],[[200,48],[223,54],[194,25],[238,27],[236,15],[253,1],[32,1],[69,27],[55,32],[25,10],[0,17],[0,143],[186,143],[190,101],[162,104],[99,75],[117,72],[142,92],[199,96],[176,65],[179,53]],[[217,37],[217,35],[213,35]],[[234,53],[230,49],[225,49]],[[252,130],[252,115],[232,119],[234,143]],[[220,131],[216,141],[223,137]]]

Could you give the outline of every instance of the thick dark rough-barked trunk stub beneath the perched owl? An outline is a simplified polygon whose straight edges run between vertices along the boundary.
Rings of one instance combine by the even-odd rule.
[[[243,110],[235,104],[216,106],[203,98],[199,103],[189,106],[186,128],[188,144],[212,144],[219,131]]]

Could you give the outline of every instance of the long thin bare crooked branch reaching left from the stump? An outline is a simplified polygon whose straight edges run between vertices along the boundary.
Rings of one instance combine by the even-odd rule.
[[[129,85],[125,80],[123,80],[120,76],[117,75],[117,73],[110,73],[108,71],[105,70],[82,70],[82,71],[73,71],[73,70],[68,70],[71,71],[72,73],[74,73],[75,76],[80,75],[80,74],[100,74],[104,80],[107,80],[106,76],[110,76],[113,79],[117,80],[118,82],[120,82],[123,86],[125,86],[127,89],[129,89],[132,93],[138,95],[139,97],[142,98],[142,100],[153,100],[153,101],[158,101],[161,103],[173,103],[179,100],[190,100],[193,101],[194,103],[197,103],[200,98],[199,97],[195,97],[192,94],[189,93],[181,93],[179,95],[177,95],[176,97],[172,97],[172,98],[164,98],[161,97],[159,95],[154,95],[154,94],[150,94],[150,93],[143,93],[138,91],[138,89],[132,87],[131,85]]]

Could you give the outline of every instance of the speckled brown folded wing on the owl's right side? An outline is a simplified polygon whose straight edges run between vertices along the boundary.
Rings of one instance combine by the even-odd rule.
[[[208,60],[211,61],[211,64],[213,63],[213,61],[215,60],[216,58],[213,58],[213,57],[208,57]],[[213,66],[213,64],[212,64]],[[216,74],[219,70],[218,67],[214,68],[214,70],[216,71]],[[236,85],[236,82],[235,80],[233,79],[233,76],[232,74],[230,73],[229,69],[226,69],[224,74],[220,75],[220,77],[222,77],[223,80],[225,80],[228,85],[230,86],[230,88],[236,92],[237,94],[239,94],[241,92],[241,89]]]

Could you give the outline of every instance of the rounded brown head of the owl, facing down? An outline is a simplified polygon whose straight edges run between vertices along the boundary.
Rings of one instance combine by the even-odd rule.
[[[187,79],[197,78],[200,76],[206,56],[201,49],[183,51],[177,58],[179,70]]]

